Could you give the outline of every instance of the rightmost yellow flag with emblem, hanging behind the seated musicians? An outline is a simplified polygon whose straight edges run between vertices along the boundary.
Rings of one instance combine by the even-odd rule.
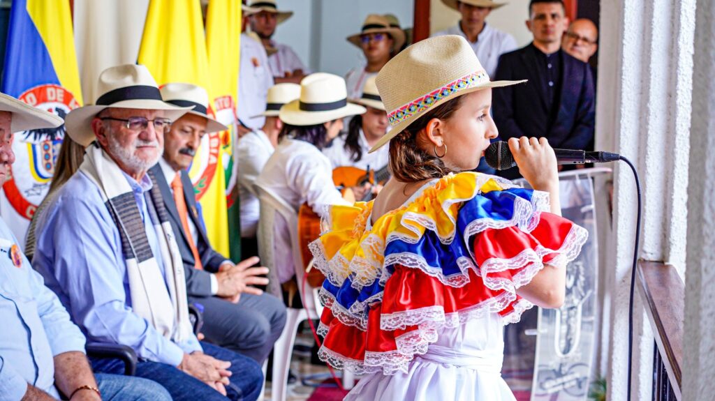
[[[212,96],[216,118],[231,128],[222,132],[221,160],[226,179],[226,206],[228,208],[228,235],[230,257],[234,262],[241,258],[241,228],[237,163],[233,148],[237,143],[236,99],[240,67],[241,0],[211,0],[206,15],[206,49],[209,59]]]

